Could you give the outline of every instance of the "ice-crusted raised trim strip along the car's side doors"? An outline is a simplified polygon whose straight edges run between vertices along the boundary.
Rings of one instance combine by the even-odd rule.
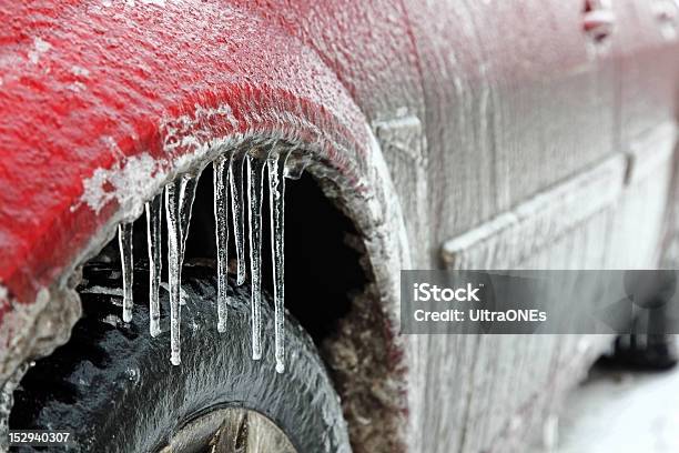
[[[676,140],[675,123],[661,124],[636,141],[628,153],[616,153],[445,242],[443,258],[446,266],[510,269],[529,259],[600,211],[614,209],[625,197],[627,185],[667,172]],[[667,180],[665,182],[667,184]],[[656,215],[662,214],[660,205]],[[660,246],[657,236],[643,239],[640,242],[646,242],[646,246]]]

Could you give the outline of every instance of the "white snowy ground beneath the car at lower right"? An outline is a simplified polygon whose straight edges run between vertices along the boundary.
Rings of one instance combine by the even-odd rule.
[[[595,368],[559,421],[555,453],[678,453],[679,368],[631,373]]]

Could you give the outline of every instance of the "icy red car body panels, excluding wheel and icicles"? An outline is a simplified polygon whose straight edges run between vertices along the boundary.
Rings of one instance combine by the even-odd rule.
[[[355,445],[523,445],[601,346],[399,336],[399,271],[653,266],[673,197],[675,7],[0,3],[1,378],[68,339],[73,273],[174,175],[285,140],[337,188],[376,283],[385,350],[345,375],[377,396],[345,416],[383,423]]]

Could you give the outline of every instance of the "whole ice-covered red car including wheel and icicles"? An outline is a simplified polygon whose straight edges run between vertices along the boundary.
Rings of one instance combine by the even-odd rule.
[[[399,335],[399,272],[671,261],[678,9],[0,1],[6,429],[525,451],[609,339]]]

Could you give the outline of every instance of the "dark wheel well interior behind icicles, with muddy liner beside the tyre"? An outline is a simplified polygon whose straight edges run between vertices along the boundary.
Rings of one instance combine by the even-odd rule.
[[[212,181],[212,165],[207,165],[201,175],[192,210],[185,265],[191,265],[192,262],[216,260]],[[310,173],[304,173],[300,180],[287,180],[286,182],[285,306],[316,344],[334,386],[343,397],[349,436],[353,447],[356,449],[357,445],[363,444],[363,437],[372,434],[364,435],[365,427],[356,423],[354,407],[359,407],[357,412],[362,414],[376,413],[377,416],[385,420],[385,423],[387,419],[391,420],[397,413],[395,403],[387,403],[372,395],[375,385],[391,385],[386,379],[393,371],[389,368],[388,344],[391,340],[385,333],[387,329],[383,325],[385,320],[378,306],[379,299],[374,296],[374,278],[362,236],[352,220],[331,198],[326,197],[323,190],[324,184],[331,184],[331,182],[320,182]],[[262,282],[263,290],[271,294],[273,293],[273,279],[271,275],[268,193],[266,188],[264,190]],[[134,222],[133,228],[134,262],[144,266],[148,262],[145,215],[141,215]],[[166,263],[165,238],[168,238],[168,232],[164,221],[162,234],[164,238],[163,263]],[[247,250],[247,240],[245,245]],[[229,250],[230,261],[232,261],[235,259],[233,234],[230,238]],[[93,260],[114,265],[119,263],[118,238],[109,241]],[[85,269],[83,280],[87,279]],[[168,281],[165,264],[161,280]],[[134,285],[140,284],[145,285],[145,282],[135,280]],[[122,286],[122,276],[120,285]],[[140,301],[140,303],[145,303],[145,301]],[[352,326],[349,331],[347,326]],[[362,332],[369,332],[369,334],[366,336]],[[148,335],[148,332],[141,334]],[[153,339],[149,338],[149,341]],[[87,348],[88,345],[83,344],[82,335],[80,335],[77,344],[70,341],[57,351],[68,350],[74,354],[71,361],[63,362],[63,366],[68,368],[72,365],[71,362],[75,363],[78,352],[85,351]],[[63,353],[60,354],[63,355]],[[63,361],[60,354],[55,354],[60,356],[58,361]],[[347,358],[353,359],[347,360]],[[356,363],[354,359],[361,359],[359,363]],[[51,366],[50,356],[39,361],[37,369],[44,366]],[[32,373],[33,376],[34,374]],[[30,376],[31,373],[28,374],[29,381]],[[30,383],[27,381],[27,384]],[[40,382],[29,385],[31,389],[40,386],[44,385]],[[54,391],[53,389],[44,390],[48,393]],[[72,397],[72,391],[69,389],[63,389],[63,391],[64,397]],[[13,413],[12,415],[20,417],[29,414]]]

